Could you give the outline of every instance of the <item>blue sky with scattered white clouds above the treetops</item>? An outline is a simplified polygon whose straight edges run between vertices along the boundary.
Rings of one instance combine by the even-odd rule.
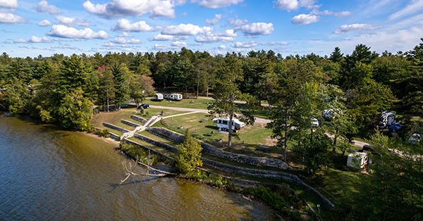
[[[0,53],[410,51],[423,0],[0,0]]]

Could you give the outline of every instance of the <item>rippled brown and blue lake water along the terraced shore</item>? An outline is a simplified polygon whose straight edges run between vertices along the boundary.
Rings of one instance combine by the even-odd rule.
[[[184,179],[119,185],[117,146],[0,113],[0,220],[276,220],[262,203]]]

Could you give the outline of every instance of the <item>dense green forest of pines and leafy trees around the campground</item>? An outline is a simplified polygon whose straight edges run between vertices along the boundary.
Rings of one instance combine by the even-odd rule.
[[[336,149],[345,153],[355,137],[370,139],[376,146],[374,172],[361,179],[361,187],[375,188],[345,193],[338,202],[340,215],[351,220],[369,218],[366,213],[372,211],[358,205],[369,201],[369,194],[382,194],[384,198],[374,196],[369,201],[373,213],[386,216],[381,220],[418,220],[421,213],[414,212],[423,205],[422,144],[418,148],[408,144],[407,132],[423,132],[422,123],[412,121],[423,111],[422,62],[423,43],[395,54],[379,54],[358,44],[347,55],[336,47],[329,56],[310,53],[285,58],[274,51],[212,56],[185,48],[37,58],[3,53],[0,108],[89,130],[93,106],[109,110],[110,104],[118,109],[128,99],[140,103],[154,94],[154,88],[178,87],[197,96],[212,92],[216,99],[210,106],[212,113],[233,119],[243,111],[250,123],[252,110],[266,101],[272,120],[267,127],[278,141],[276,146],[285,150],[284,159],[288,142],[294,142],[295,154],[311,171],[330,165]],[[235,104],[240,99],[247,101],[247,110]],[[331,119],[312,127],[312,120],[322,118],[324,110],[331,110]],[[400,137],[388,139],[374,130],[384,110],[402,113]],[[393,156],[388,147],[406,157]],[[396,197],[390,198],[391,194]]]

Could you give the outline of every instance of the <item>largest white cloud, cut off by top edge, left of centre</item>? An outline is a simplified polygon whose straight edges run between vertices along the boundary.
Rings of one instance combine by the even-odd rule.
[[[106,4],[92,4],[85,1],[82,6],[86,11],[103,18],[125,18],[126,16],[140,17],[150,13],[149,18],[175,18],[174,6],[185,4],[185,0],[112,0]]]

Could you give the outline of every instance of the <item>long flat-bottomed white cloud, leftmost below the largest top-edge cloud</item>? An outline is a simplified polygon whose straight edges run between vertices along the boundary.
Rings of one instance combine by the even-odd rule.
[[[53,37],[73,38],[73,39],[108,39],[109,34],[104,31],[94,32],[90,28],[84,30],[76,30],[73,27],[64,25],[53,25],[51,31],[47,32]]]

